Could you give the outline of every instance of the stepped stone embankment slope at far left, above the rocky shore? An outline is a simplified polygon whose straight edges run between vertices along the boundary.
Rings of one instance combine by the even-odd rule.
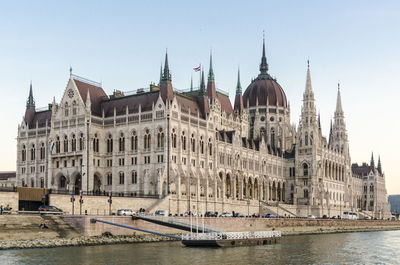
[[[47,229],[39,228],[46,224]],[[0,215],[0,240],[34,240],[80,236],[60,216]]]

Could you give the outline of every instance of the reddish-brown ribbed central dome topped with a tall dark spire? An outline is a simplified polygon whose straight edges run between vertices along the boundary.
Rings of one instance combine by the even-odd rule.
[[[282,87],[268,74],[268,63],[265,57],[265,42],[260,64],[260,74],[247,87],[243,94],[243,103],[246,107],[278,106],[287,108],[287,100]],[[248,103],[248,104],[247,104]]]

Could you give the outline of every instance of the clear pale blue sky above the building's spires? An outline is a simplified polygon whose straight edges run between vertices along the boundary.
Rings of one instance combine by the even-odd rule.
[[[258,74],[265,30],[292,122],[310,59],[324,134],[340,81],[352,162],[380,155],[399,194],[399,29],[399,1],[0,1],[0,170],[15,170],[31,80],[36,107],[60,100],[70,66],[107,93],[148,87],[168,49],[173,85],[185,89],[212,49],[217,87],[233,100],[238,67],[243,89]]]

